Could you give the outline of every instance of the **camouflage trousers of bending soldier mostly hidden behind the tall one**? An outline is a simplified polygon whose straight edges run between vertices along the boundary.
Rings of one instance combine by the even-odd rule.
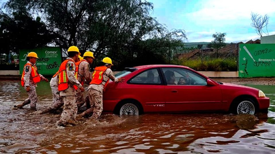
[[[52,104],[48,109],[46,109],[47,112],[54,112],[64,105],[63,98],[59,94],[58,87],[51,86],[51,89],[52,89]]]

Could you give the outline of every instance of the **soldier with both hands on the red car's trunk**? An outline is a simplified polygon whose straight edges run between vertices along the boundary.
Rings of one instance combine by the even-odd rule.
[[[112,60],[109,57],[105,57],[102,60],[101,66],[96,67],[90,86],[88,87],[89,100],[91,108],[87,109],[85,112],[78,115],[78,117],[83,117],[89,115],[93,112],[92,117],[99,119],[103,110],[103,91],[107,86],[109,79],[113,82],[123,82],[124,78],[115,78],[114,73],[111,70]]]

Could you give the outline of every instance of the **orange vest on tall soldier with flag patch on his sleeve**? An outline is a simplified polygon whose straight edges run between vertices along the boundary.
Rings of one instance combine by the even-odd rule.
[[[61,65],[59,67],[59,70],[58,70],[58,77],[59,77],[58,91],[64,91],[69,88],[69,83],[68,83],[69,79],[68,79],[67,70],[66,70],[66,65],[67,65],[68,61],[74,62],[71,59],[66,59],[66,60],[64,60],[64,62],[61,63]],[[77,88],[74,88],[74,90],[77,90]]]

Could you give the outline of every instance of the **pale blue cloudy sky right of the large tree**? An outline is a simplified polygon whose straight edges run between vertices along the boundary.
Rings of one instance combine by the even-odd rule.
[[[250,25],[251,12],[268,14],[269,35],[275,34],[275,0],[148,1],[154,4],[152,16],[168,29],[184,29],[188,42],[210,42],[216,32],[226,33],[226,42],[258,38]]]

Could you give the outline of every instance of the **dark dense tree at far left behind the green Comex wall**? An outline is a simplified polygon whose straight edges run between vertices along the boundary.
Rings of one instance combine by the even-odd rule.
[[[53,35],[47,30],[46,25],[37,17],[18,11],[11,16],[0,12],[0,53],[18,53],[19,49],[37,48],[46,46],[53,40]],[[5,62],[7,62],[7,59]]]

